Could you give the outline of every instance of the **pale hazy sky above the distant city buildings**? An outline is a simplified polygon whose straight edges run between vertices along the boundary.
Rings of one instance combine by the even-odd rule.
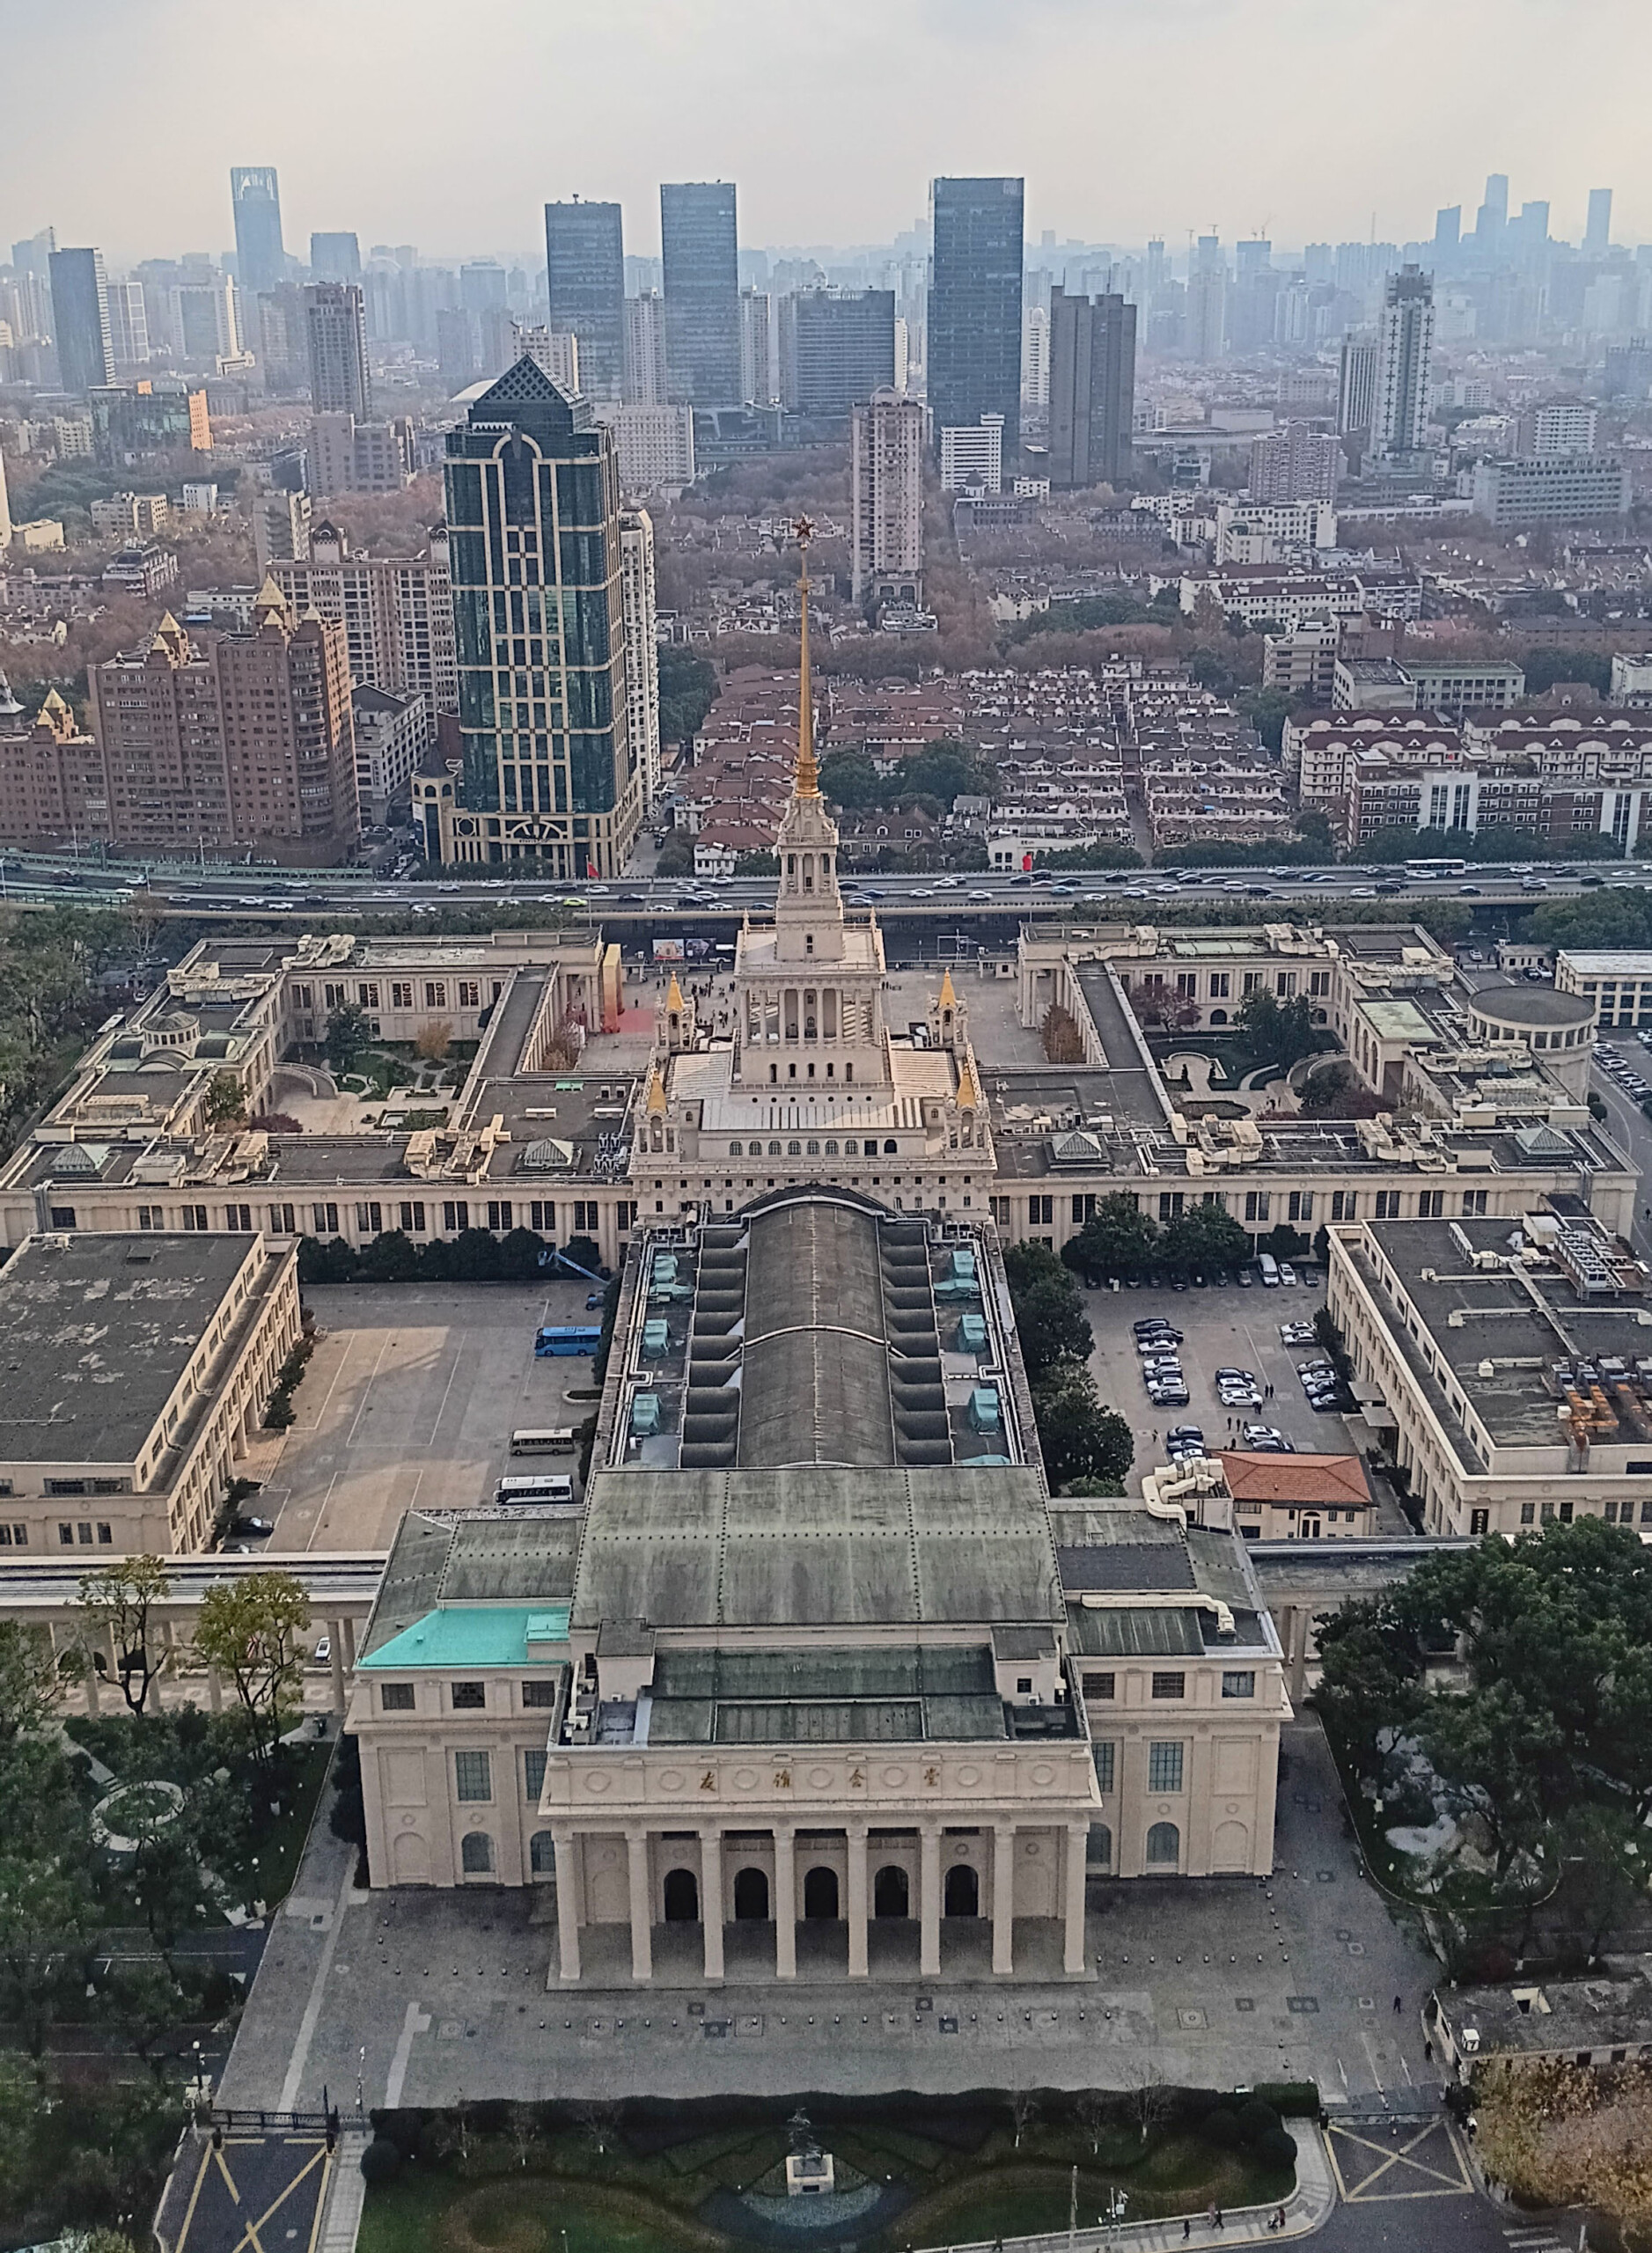
[[[548,196],[739,182],[744,243],[888,241],[931,173],[1019,171],[1028,239],[1406,241],[1487,171],[1652,239],[1647,0],[0,0],[0,255],[232,241],[228,169],[426,259],[532,252]]]

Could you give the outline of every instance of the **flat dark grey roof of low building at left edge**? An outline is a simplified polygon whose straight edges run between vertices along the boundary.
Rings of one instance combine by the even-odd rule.
[[[250,1235],[32,1237],[0,1268],[0,1453],[133,1462]]]

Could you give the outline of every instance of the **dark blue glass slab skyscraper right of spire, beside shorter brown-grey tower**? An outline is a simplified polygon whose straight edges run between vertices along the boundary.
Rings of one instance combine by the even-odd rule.
[[[1021,448],[1021,180],[935,180],[929,284],[929,406],[940,433],[1003,415]]]

